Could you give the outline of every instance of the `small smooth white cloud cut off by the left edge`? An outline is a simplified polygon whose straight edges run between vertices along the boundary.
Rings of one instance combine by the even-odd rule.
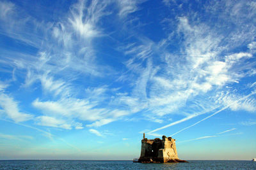
[[[24,122],[33,118],[33,115],[20,112],[18,103],[3,92],[0,92],[0,106],[3,108],[6,116],[15,122]]]

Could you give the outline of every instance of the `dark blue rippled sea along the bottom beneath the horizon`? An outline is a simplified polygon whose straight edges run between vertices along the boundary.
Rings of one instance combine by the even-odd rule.
[[[189,163],[141,164],[121,160],[0,160],[0,169],[256,169],[246,160],[189,160]]]

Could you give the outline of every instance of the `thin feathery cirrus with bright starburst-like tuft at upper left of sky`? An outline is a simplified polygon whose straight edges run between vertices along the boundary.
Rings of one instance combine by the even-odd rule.
[[[97,22],[101,17],[109,15],[106,11],[107,4],[99,1],[92,1],[92,3],[78,1],[72,5],[68,15],[56,23],[45,21],[48,22],[45,24],[26,14],[29,27],[35,28],[30,31],[33,35],[28,33],[28,36],[24,36],[27,35],[25,32],[29,32],[24,25],[26,22],[22,18],[15,17],[21,15],[19,7],[15,10],[13,7],[12,12],[15,16],[10,16],[8,23],[15,24],[15,27],[11,29],[4,27],[4,33],[12,37],[12,34],[20,32],[20,35],[24,36],[20,38],[21,41],[25,43],[31,41],[29,45],[38,48],[38,53],[36,57],[31,54],[29,56],[28,53],[22,53],[22,55],[14,52],[8,53],[6,54],[6,59],[10,60],[8,65],[19,69],[16,74],[20,73],[20,69],[22,72],[24,69],[27,71],[25,83],[27,87],[38,80],[44,82],[45,74],[54,76],[54,79],[58,79],[60,75],[64,76],[65,81],[75,80],[77,74],[81,73],[101,76],[99,70],[104,66],[97,67],[92,39],[101,35]],[[41,38],[35,36],[37,33],[41,34]],[[36,46],[39,44],[41,45]],[[8,57],[10,55],[13,55],[12,59]],[[18,55],[19,57],[14,57]]]

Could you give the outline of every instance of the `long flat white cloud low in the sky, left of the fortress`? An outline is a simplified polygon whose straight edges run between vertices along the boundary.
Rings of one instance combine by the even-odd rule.
[[[94,89],[93,91],[95,91]],[[104,101],[104,90],[96,90],[99,93],[88,92],[88,98],[76,99],[73,97],[62,97],[58,101],[33,101],[33,106],[42,110],[48,117],[61,118],[62,120],[86,120],[93,122],[86,125],[87,127],[100,127],[109,124],[122,117],[130,115],[132,112],[109,108],[97,108],[100,104],[100,98]],[[44,124],[42,124],[44,125]],[[74,125],[75,126],[75,125]],[[77,128],[80,128],[78,125]]]

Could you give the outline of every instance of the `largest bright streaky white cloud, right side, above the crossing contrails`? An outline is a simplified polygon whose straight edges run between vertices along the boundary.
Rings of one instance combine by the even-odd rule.
[[[145,97],[145,103],[150,101],[147,107],[154,115],[163,116],[175,112],[179,113],[186,102],[194,103],[195,99],[198,100],[195,105],[200,110],[194,110],[195,108],[193,108],[194,112],[203,113],[216,108],[220,105],[211,100],[208,100],[208,102],[205,99],[200,100],[200,96],[211,96],[211,90],[218,91],[227,83],[239,83],[239,79],[244,77],[241,72],[247,68],[241,66],[241,69],[237,70],[237,66],[239,66],[242,59],[251,58],[252,53],[240,52],[222,56],[221,52],[226,48],[220,45],[223,37],[217,36],[207,25],[195,24],[193,21],[191,23],[186,17],[179,18],[178,32],[184,34],[185,38],[182,44],[182,55],[175,56],[168,51],[163,51],[161,55],[166,56],[166,58],[163,57],[164,62],[166,62],[164,66],[166,67],[162,66],[159,69],[161,74],[157,73],[158,70],[156,69],[156,73],[151,74],[150,80],[147,81],[147,85],[152,84],[146,87],[148,94]],[[157,48],[157,45],[155,46]],[[151,51],[146,56],[151,55],[159,55],[159,53]],[[225,60],[223,60],[223,57],[225,57]],[[132,62],[129,62],[129,65]],[[152,68],[154,67],[157,66],[152,66]],[[141,68],[138,70],[143,75]],[[146,70],[146,67],[144,70]],[[138,81],[143,82],[141,78]],[[144,89],[141,91],[143,92]],[[243,103],[246,102],[243,101]],[[251,107],[247,104],[242,109],[253,111],[252,103],[254,101],[248,103],[251,103]],[[189,107],[192,106],[189,105]]]

